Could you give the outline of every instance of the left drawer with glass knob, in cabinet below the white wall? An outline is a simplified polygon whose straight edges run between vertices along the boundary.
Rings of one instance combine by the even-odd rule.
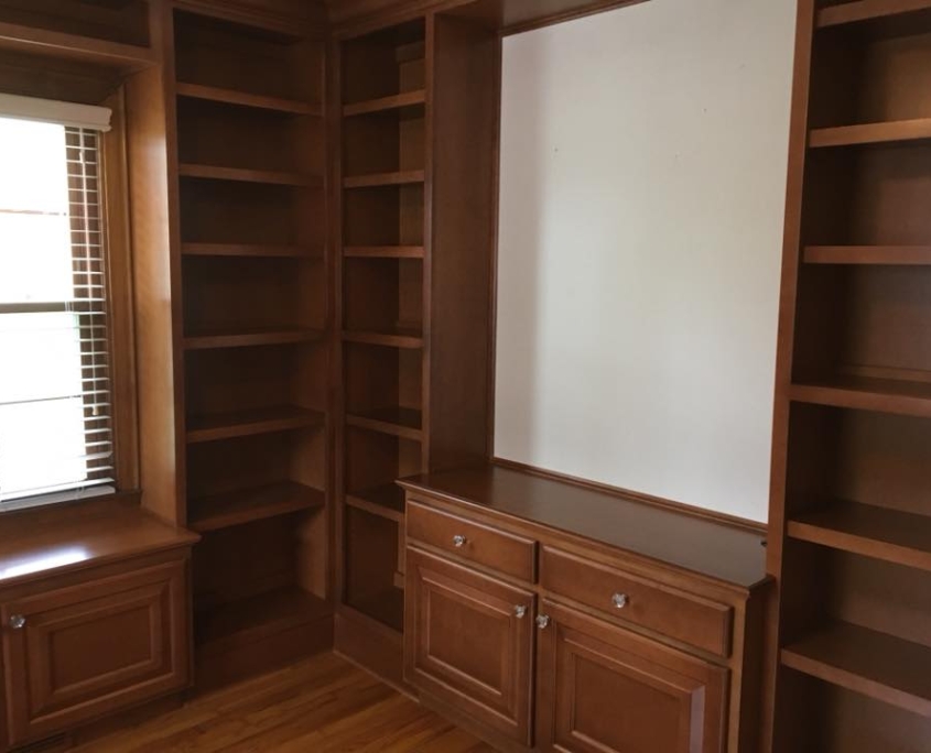
[[[464,517],[408,502],[408,539],[533,582],[537,545]]]

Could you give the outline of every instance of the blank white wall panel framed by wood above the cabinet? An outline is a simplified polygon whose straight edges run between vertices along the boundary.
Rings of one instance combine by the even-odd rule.
[[[767,516],[795,0],[505,41],[496,455]]]

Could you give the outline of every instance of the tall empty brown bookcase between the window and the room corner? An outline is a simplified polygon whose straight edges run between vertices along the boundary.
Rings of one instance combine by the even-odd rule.
[[[332,635],[326,47],[310,25],[173,10],[201,687]]]

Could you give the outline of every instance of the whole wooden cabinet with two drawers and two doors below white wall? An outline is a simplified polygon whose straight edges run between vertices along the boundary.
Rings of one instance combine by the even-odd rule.
[[[424,703],[508,752],[534,744],[580,753],[758,750],[769,592],[758,532],[511,468],[399,484],[408,492],[405,679]],[[554,510],[572,511],[564,527]],[[670,514],[678,524],[668,523]],[[631,521],[650,536],[618,546],[616,532]],[[664,532],[653,527],[660,521]],[[646,541],[688,539],[689,528],[703,536],[701,563],[662,560],[657,543]],[[462,546],[456,535],[465,536]],[[713,543],[739,539],[756,559],[747,555],[745,569],[725,570],[719,559],[732,548]],[[515,568],[521,553],[535,554],[537,567]],[[512,610],[542,605],[508,614],[518,597]],[[528,616],[539,646],[530,741],[515,735],[500,710],[488,717],[489,691],[505,697],[490,678],[513,658],[506,625]],[[511,724],[502,727],[505,719]]]

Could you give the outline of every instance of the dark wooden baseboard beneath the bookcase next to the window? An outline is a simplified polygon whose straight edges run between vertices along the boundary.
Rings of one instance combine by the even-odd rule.
[[[333,648],[333,619],[326,616],[268,635],[234,651],[196,658],[196,692],[248,679]]]

